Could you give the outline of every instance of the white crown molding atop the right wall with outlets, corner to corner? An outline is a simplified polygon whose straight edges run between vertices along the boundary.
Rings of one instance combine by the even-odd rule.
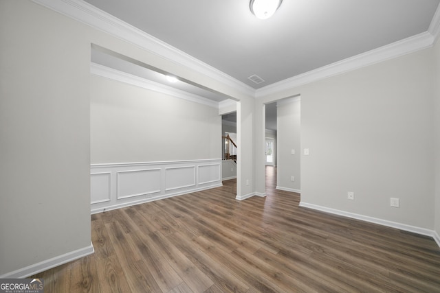
[[[261,89],[256,90],[255,97],[263,97],[272,95],[280,91],[292,89],[296,86],[302,86],[311,82],[316,82],[333,75],[338,75],[361,67],[373,65],[388,59],[396,58],[405,54],[410,54],[421,49],[431,47],[434,42],[434,36],[429,32],[423,32],[409,38],[404,38],[395,43],[367,51],[362,54],[308,71],[306,73],[295,75],[292,78],[269,84]]]

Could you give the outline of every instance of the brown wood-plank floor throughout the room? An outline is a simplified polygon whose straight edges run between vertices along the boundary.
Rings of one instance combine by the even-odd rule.
[[[45,292],[440,292],[430,237],[298,207],[235,180],[91,216],[94,255],[41,272]]]

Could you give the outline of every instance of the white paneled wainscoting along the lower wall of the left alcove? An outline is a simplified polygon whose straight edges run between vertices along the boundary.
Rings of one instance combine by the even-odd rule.
[[[91,213],[221,186],[221,159],[90,166]]]

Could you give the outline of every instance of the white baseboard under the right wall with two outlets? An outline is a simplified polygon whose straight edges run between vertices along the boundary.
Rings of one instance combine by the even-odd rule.
[[[333,213],[334,215],[342,215],[343,217],[347,217],[347,218],[361,220],[364,222],[370,222],[373,224],[379,224],[382,226],[388,226],[391,228],[397,228],[399,230],[408,231],[408,232],[412,232],[412,233],[416,233],[416,234],[420,234],[420,235],[430,236],[430,237],[434,238],[435,242],[437,242],[437,245],[439,245],[439,247],[440,247],[440,237],[438,237],[439,235],[436,236],[435,234],[437,234],[437,233],[435,233],[435,231],[433,231],[433,230],[429,230],[426,228],[420,228],[420,227],[416,227],[416,226],[411,226],[411,225],[407,225],[407,224],[401,224],[401,223],[388,221],[388,220],[382,220],[379,218],[373,218],[373,217],[369,217],[367,215],[359,215],[358,213],[349,213],[347,211],[340,211],[338,209],[331,209],[329,207],[322,207],[320,205],[309,204],[307,202],[300,202],[300,207],[307,207],[309,209],[316,209],[318,211],[324,211],[325,213]],[[436,237],[437,237],[437,239],[436,239]]]

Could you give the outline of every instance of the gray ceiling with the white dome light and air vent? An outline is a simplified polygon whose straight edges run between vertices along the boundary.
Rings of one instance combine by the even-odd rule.
[[[266,20],[248,0],[85,1],[259,89],[426,32],[440,0],[285,0]]]

